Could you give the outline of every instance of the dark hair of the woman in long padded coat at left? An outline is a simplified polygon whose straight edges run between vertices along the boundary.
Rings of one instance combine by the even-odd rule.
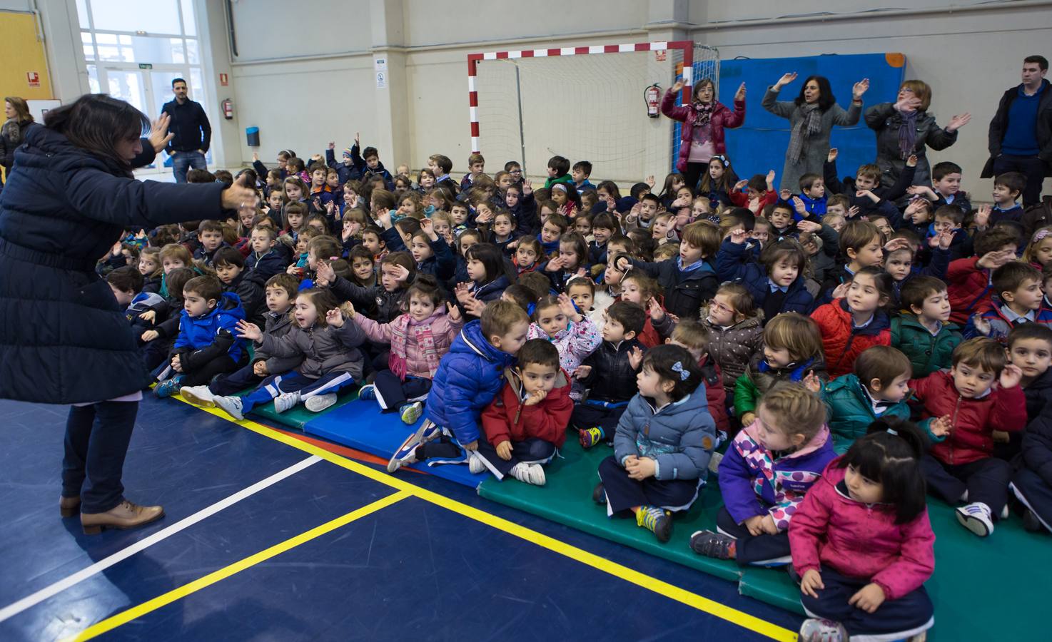
[[[128,103],[105,94],[85,94],[68,105],[49,109],[44,126],[74,146],[109,161],[130,178],[132,163],[117,151],[117,142],[139,139],[149,131],[149,119]]]

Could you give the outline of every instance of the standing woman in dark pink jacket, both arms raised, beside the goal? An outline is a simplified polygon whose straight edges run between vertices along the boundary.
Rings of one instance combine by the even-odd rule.
[[[716,100],[715,86],[708,78],[694,85],[693,100],[689,105],[675,105],[675,97],[683,89],[683,82],[676,82],[665,92],[661,112],[681,121],[680,158],[675,168],[683,172],[684,181],[692,193],[697,193],[697,181],[702,172],[708,171],[709,160],[727,152],[724,129],[741,127],[745,122],[745,83],[734,95],[734,110]]]

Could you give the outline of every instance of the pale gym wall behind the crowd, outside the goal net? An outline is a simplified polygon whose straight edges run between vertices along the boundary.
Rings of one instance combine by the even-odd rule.
[[[429,154],[441,152],[459,172],[470,152],[469,53],[681,37],[719,47],[724,59],[901,51],[906,76],[932,86],[932,110],[940,122],[971,111],[972,123],[958,143],[932,159],[960,163],[966,187],[982,198],[990,186],[978,173],[998,97],[1018,82],[1024,56],[1052,57],[1052,4],[1013,4],[1020,3],[969,13],[943,8],[950,0],[914,0],[909,9],[873,13],[868,9],[877,3],[871,0],[835,5],[826,0],[582,0],[572,5],[563,0],[236,0],[239,56],[230,64],[237,129],[261,128],[265,161],[283,147],[309,157],[330,140],[339,150],[361,131],[363,143],[382,142],[382,159],[391,168],[400,162],[422,167]],[[904,11],[929,13],[903,16]],[[814,16],[824,12],[850,16]],[[764,19],[778,20],[755,23]],[[215,25],[220,27],[225,23]],[[388,89],[376,87],[373,57],[398,63],[389,69]],[[867,102],[891,98],[868,96]],[[602,112],[601,104],[585,98],[559,100],[568,118]],[[247,162],[252,150],[243,133],[239,140]]]

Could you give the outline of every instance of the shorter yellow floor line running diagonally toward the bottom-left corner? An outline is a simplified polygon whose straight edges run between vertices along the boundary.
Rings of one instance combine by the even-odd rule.
[[[138,606],[133,606],[127,610],[123,610],[115,616],[108,617],[105,620],[93,624],[92,626],[80,631],[75,638],[73,638],[73,640],[78,640],[78,641],[90,640],[92,638],[95,638],[108,630],[112,630],[120,626],[121,624],[130,622],[136,618],[141,618],[142,616],[148,613],[157,610],[158,608],[166,606],[177,600],[181,600],[193,593],[196,593],[198,591],[201,591],[202,588],[215,584],[216,582],[225,580],[231,575],[241,573],[246,568],[251,568],[256,564],[264,562],[270,559],[271,557],[281,555],[282,553],[290,551],[301,544],[305,544],[317,537],[321,537],[326,533],[336,531],[337,529],[345,526],[357,519],[361,519],[367,515],[371,515],[377,511],[385,509],[393,503],[402,501],[403,499],[411,496],[412,494],[407,491],[398,491],[396,493],[391,493],[390,495],[384,497],[383,499],[378,499],[377,501],[368,503],[360,509],[356,509],[350,513],[347,513],[346,515],[343,515],[341,517],[337,517],[331,521],[327,521],[324,524],[321,524],[320,526],[316,526],[305,533],[301,533],[295,537],[290,537],[283,542],[270,546],[269,548],[260,551],[255,555],[250,555],[242,560],[234,562],[228,566],[224,566],[218,571],[209,573],[208,575],[198,578],[193,582],[183,584],[178,588],[174,588],[165,594],[159,595],[153,600],[143,602]]]

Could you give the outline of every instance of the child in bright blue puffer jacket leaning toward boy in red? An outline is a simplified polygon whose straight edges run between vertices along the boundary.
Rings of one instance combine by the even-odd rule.
[[[394,451],[388,472],[425,459],[428,465],[467,463],[467,451],[479,448],[479,417],[500,392],[504,369],[526,343],[528,329],[529,316],[509,301],[490,302],[481,319],[464,326],[439,361],[426,420]]]

